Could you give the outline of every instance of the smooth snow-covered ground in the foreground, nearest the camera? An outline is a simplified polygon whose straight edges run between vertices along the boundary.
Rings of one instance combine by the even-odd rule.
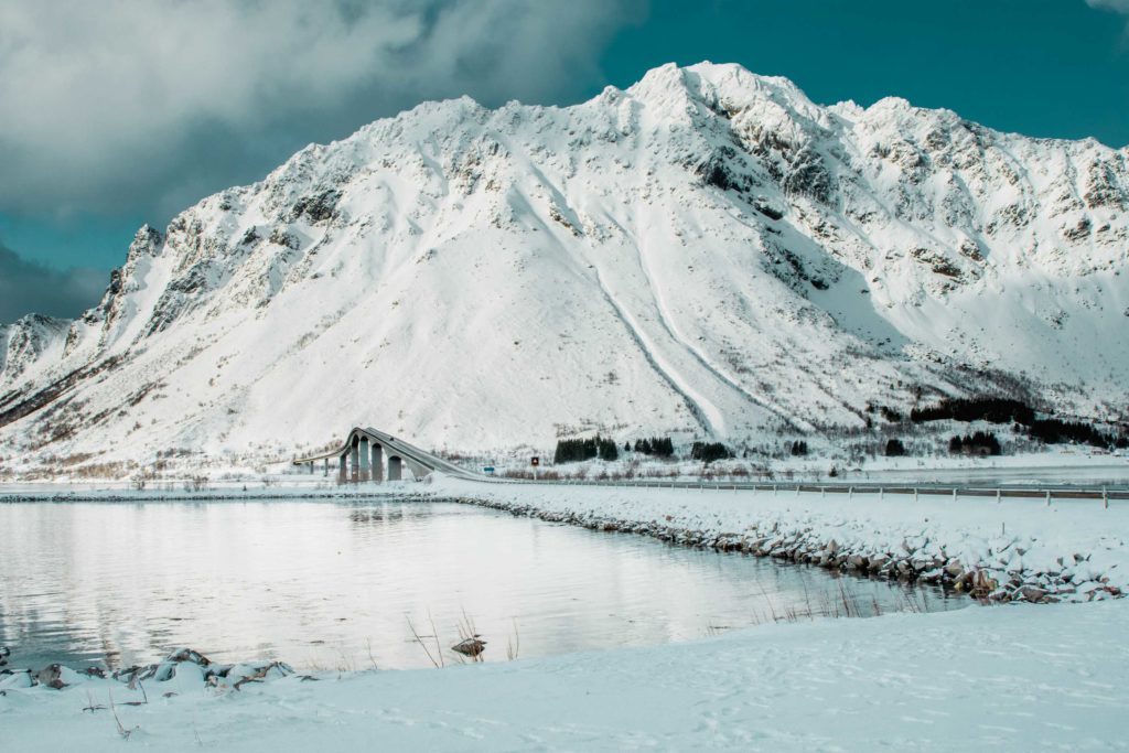
[[[701,641],[205,689],[0,697],[5,750],[1124,750],[1129,602],[772,624]],[[11,682],[11,681],[9,681]],[[166,698],[168,692],[176,695]]]

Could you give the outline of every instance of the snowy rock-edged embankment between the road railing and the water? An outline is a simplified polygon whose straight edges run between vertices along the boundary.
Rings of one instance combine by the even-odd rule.
[[[1129,589],[1129,502],[540,484],[439,478],[436,494],[689,545],[946,583],[996,601]]]

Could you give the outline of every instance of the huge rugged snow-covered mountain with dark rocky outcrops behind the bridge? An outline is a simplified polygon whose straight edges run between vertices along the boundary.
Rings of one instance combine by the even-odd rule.
[[[938,391],[1111,415],[1127,160],[710,63],[422,104],[141,228],[69,327],[9,327],[0,447],[741,441]]]

